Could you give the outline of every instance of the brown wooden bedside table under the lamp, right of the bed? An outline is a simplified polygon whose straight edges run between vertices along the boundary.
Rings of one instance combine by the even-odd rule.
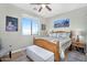
[[[85,47],[86,47],[86,44],[84,42],[76,42],[76,41],[73,41],[72,42],[72,50],[76,50],[76,51],[81,51],[83,53],[85,53]]]

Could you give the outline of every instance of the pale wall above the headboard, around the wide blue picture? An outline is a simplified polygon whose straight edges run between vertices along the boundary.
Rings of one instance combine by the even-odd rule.
[[[70,22],[69,28],[54,29],[53,22],[58,19],[69,19]],[[86,30],[86,23],[87,23],[87,7],[48,18],[45,24],[47,26],[47,31],[50,31],[50,30],[76,30],[76,29]]]

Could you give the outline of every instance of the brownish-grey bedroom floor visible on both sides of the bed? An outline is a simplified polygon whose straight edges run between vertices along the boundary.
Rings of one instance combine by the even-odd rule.
[[[26,57],[25,51],[22,51],[12,54],[12,58],[3,56],[2,62],[31,62],[31,59]],[[77,51],[68,52],[67,62],[85,62],[85,54]]]

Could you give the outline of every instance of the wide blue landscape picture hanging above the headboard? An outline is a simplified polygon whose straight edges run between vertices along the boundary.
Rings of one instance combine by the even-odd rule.
[[[68,28],[69,26],[69,19],[61,19],[54,21],[54,28]]]

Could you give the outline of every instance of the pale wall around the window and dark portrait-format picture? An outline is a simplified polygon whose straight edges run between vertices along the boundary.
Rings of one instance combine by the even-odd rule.
[[[10,4],[0,4],[0,39],[2,40],[2,46],[8,48],[12,45],[12,50],[17,51],[33,44],[33,39],[30,35],[22,35],[21,19],[24,18],[23,14],[36,18],[34,14],[30,14],[26,11],[12,7]],[[18,32],[7,32],[6,31],[6,17],[18,18]]]

